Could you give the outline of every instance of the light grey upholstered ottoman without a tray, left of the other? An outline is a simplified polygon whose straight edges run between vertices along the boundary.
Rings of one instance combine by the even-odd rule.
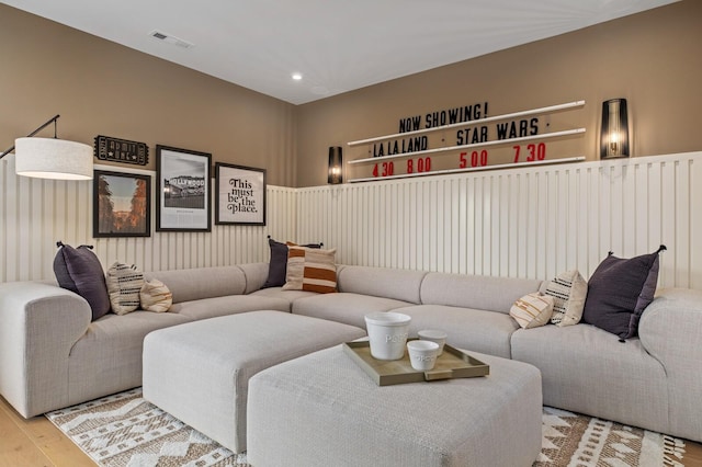
[[[160,329],[144,340],[144,398],[240,453],[251,376],[364,335],[353,326],[270,310]]]

